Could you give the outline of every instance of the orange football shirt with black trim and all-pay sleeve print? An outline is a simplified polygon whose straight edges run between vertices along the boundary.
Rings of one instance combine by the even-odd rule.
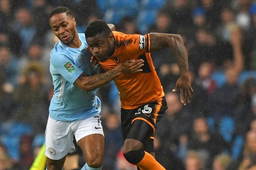
[[[121,74],[116,84],[123,109],[135,109],[145,103],[161,99],[165,94],[157,76],[150,56],[150,34],[124,34],[112,31],[115,39],[115,50],[104,62],[99,62],[105,71],[113,69],[125,60],[143,59],[143,71],[132,74]]]

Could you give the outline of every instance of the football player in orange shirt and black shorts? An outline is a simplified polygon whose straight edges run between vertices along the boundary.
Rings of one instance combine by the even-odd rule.
[[[182,38],[177,34],[124,34],[111,31],[103,20],[90,23],[85,31],[88,48],[105,71],[127,59],[144,60],[142,72],[121,74],[114,79],[121,100],[123,153],[128,162],[140,170],[164,170],[154,158],[156,123],[167,109],[165,94],[154,69],[150,52],[168,47],[180,68],[180,78],[173,91],[180,89],[186,105],[193,94],[188,73],[188,56]]]

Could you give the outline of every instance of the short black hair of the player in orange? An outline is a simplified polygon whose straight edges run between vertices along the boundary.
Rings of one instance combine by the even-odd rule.
[[[111,30],[108,26],[108,24],[103,20],[95,20],[87,26],[85,30],[85,37],[94,37],[98,33],[104,32],[105,35],[109,35],[111,33]]]

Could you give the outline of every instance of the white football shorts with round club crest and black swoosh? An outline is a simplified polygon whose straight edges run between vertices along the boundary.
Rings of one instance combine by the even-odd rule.
[[[78,142],[91,134],[104,136],[100,116],[74,122],[57,121],[48,117],[45,131],[45,156],[52,160],[59,160],[74,151],[73,135]]]

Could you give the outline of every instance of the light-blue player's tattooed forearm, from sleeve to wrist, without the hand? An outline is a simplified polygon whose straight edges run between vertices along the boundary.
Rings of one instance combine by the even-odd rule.
[[[118,67],[113,68],[108,72],[89,77],[86,77],[86,75],[83,73],[76,80],[75,85],[81,88],[83,91],[89,92],[110,82],[120,74],[121,71],[118,69]]]

